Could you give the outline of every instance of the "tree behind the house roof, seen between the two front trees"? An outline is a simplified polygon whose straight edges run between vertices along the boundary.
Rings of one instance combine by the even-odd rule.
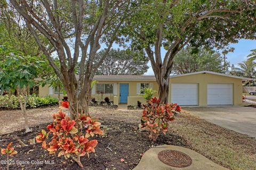
[[[97,54],[102,58],[105,50]],[[143,52],[111,49],[106,60],[99,66],[98,75],[142,75],[148,70],[148,57]]]

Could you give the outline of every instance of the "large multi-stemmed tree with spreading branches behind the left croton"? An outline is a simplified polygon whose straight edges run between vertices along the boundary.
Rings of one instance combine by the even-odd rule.
[[[71,103],[71,113],[88,113],[90,87],[99,65],[105,60],[111,46],[118,38],[124,18],[129,15],[130,1],[84,1],[84,0],[10,0],[23,16],[39,48],[63,83]],[[43,35],[58,55],[60,69],[54,64]],[[106,52],[94,63],[101,44]],[[71,50],[73,49],[73,50]],[[79,62],[78,78],[75,67]]]

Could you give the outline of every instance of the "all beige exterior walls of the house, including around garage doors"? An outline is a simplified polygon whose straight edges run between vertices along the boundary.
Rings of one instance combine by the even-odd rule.
[[[99,81],[98,83],[117,83],[117,95],[104,94],[102,97],[100,94],[92,95],[97,101],[104,101],[105,97],[109,97],[114,104],[119,104],[119,84],[127,83],[129,84],[129,95],[127,98],[127,105],[137,105],[137,101],[145,103],[143,97],[137,95],[137,83],[153,83],[153,89],[158,91],[158,84],[156,81]],[[192,74],[185,75],[181,77],[170,78],[170,88],[169,88],[169,103],[171,102],[171,83],[198,83],[198,104],[199,106],[207,105],[207,84],[209,83],[231,83],[233,84],[233,101],[234,105],[242,105],[242,80],[225,77],[222,75],[215,75],[210,73],[205,74]],[[97,89],[95,89],[97,91]],[[53,92],[54,93],[54,92]],[[49,86],[39,87],[39,96],[45,97],[49,96]],[[52,97],[58,97],[58,95],[50,95]],[[154,94],[157,96],[157,92]]]

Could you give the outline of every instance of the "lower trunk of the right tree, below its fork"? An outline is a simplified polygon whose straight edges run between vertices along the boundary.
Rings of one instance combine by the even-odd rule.
[[[169,77],[167,79],[159,77],[158,78],[158,97],[161,100],[161,103],[168,103],[168,95],[169,95]]]

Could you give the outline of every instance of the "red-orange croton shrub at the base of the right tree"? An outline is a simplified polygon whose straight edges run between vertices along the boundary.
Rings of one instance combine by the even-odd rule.
[[[144,105],[141,128],[149,132],[151,141],[156,141],[160,132],[166,133],[169,123],[174,120],[174,114],[180,111],[181,107],[177,104],[163,104],[159,98],[151,98]]]

